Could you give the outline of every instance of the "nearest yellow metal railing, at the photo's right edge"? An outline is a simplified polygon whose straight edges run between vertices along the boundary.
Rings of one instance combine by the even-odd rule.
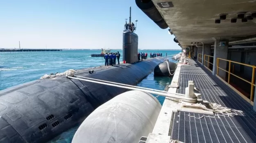
[[[227,61],[229,62],[229,71],[225,70],[225,69],[222,69],[221,67],[219,67],[219,63],[220,63],[220,60],[224,60],[224,61]],[[235,74],[233,74],[233,71],[231,73],[231,63],[236,63],[236,64],[239,64],[239,65],[245,65],[247,67],[252,67],[252,76],[251,76],[251,81],[248,81],[244,78],[241,78],[240,76],[237,76]],[[249,83],[251,85],[251,94],[250,94],[250,101],[253,102],[253,98],[254,98],[254,88],[255,88],[255,82],[254,82],[254,78],[255,78],[255,68],[256,66],[254,65],[248,65],[248,64],[244,64],[244,63],[239,63],[239,62],[235,62],[235,61],[231,61],[231,60],[226,60],[226,59],[222,59],[222,58],[217,58],[217,75],[219,75],[219,69],[222,69],[223,71],[226,71],[229,76],[228,76],[228,84],[230,83],[230,75],[233,75],[233,76],[236,76],[237,78]]]

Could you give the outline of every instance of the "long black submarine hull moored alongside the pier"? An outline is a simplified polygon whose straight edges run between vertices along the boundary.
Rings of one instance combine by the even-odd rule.
[[[161,63],[80,70],[76,75],[136,85]],[[94,109],[127,89],[57,76],[0,91],[0,143],[45,143],[82,123]]]

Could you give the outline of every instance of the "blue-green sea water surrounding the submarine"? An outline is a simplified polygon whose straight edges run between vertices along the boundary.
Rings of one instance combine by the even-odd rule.
[[[122,50],[111,50],[119,51]],[[100,50],[64,50],[64,51],[30,51],[0,52],[0,90],[39,79],[44,74],[64,72],[68,69],[83,69],[104,65],[103,57],[91,57],[100,54]],[[168,56],[179,53],[173,50],[140,50],[140,52],[161,52]],[[143,79],[138,86],[163,90],[170,84],[169,77],[154,77],[154,73]],[[164,97],[158,100],[163,104]],[[49,143],[71,143],[77,127],[64,132]]]

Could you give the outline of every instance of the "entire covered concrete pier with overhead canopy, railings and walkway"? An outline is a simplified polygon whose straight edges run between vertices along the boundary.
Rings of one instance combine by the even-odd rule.
[[[188,80],[193,80],[203,100],[236,109],[233,112],[237,114],[203,116],[181,111],[180,103],[165,98],[159,123],[147,143],[169,143],[170,139],[256,143],[256,1],[136,0],[136,4],[160,28],[170,28],[182,49],[198,49],[197,61],[202,63],[189,59],[190,65],[179,65],[169,91],[184,94]]]

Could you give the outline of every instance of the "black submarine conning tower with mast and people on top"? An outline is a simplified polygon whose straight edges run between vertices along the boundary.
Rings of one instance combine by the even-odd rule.
[[[127,20],[127,19],[126,19]],[[137,25],[137,21],[136,25]],[[125,22],[125,28],[123,31],[123,44],[122,44],[122,55],[125,63],[136,63],[138,61],[138,35],[135,34],[136,25],[131,22],[131,7],[129,23]]]

